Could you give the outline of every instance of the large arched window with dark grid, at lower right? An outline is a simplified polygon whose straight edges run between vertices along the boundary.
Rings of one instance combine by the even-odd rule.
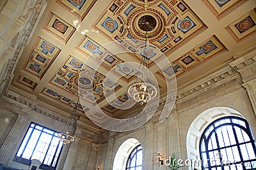
[[[205,129],[200,139],[202,169],[253,169],[255,154],[252,131],[243,118],[220,118]]]

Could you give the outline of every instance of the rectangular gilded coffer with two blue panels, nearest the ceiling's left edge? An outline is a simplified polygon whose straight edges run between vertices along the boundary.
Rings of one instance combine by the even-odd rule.
[[[22,69],[42,79],[60,51],[56,46],[38,37]]]

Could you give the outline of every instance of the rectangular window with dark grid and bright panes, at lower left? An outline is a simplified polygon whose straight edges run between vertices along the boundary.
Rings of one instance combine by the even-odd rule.
[[[29,166],[31,160],[38,159],[42,162],[40,169],[56,169],[63,148],[57,134],[42,125],[31,123],[13,161]]]

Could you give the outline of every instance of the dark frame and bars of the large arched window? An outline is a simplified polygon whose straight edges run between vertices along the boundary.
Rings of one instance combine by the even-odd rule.
[[[233,119],[243,121],[246,127],[244,127],[243,125],[234,123]],[[230,120],[230,122],[215,126],[215,124],[217,124],[221,120]],[[220,141],[218,140],[218,135],[216,134],[216,130],[221,128],[221,127],[225,127],[227,125],[231,125],[232,126],[232,132],[234,134],[234,138],[236,139],[236,144],[234,144],[234,145],[230,144],[230,146],[220,147]],[[211,131],[210,131],[209,129],[211,127],[213,127],[213,129],[211,129]],[[250,138],[250,141],[244,141],[242,143],[239,143],[235,127],[239,127],[239,129],[242,129],[244,132],[246,132],[246,134]],[[210,131],[209,134],[205,134],[205,133],[207,133],[207,131]],[[208,150],[209,139],[211,139],[211,136],[212,136],[213,133],[215,134],[217,148],[216,149],[212,149],[212,150]],[[222,134],[222,136],[223,136],[223,134]],[[228,136],[228,139],[230,140],[229,136]],[[255,153],[255,157],[254,157],[254,159],[249,159],[249,160],[245,160],[244,161],[243,160],[243,156],[242,156],[243,154],[242,154],[240,146],[244,145],[244,144],[247,144],[247,143],[251,143],[252,144],[252,148],[253,148],[253,152]],[[204,152],[202,151],[202,145],[203,144],[205,145],[205,151]],[[250,125],[248,124],[248,122],[244,118],[240,118],[240,117],[223,117],[223,118],[219,118],[218,120],[215,120],[210,125],[208,125],[208,127],[204,130],[204,132],[202,133],[201,139],[200,139],[199,150],[200,150],[200,158],[201,158],[201,160],[202,160],[202,157],[203,157],[203,155],[202,155],[203,153],[206,153],[206,155],[207,155],[207,167],[206,166],[204,167],[204,162],[202,162],[202,169],[212,169],[214,167],[220,167],[220,165],[218,165],[218,164],[215,164],[215,166],[211,166],[211,159],[210,159],[210,156],[209,156],[209,152],[212,152],[213,150],[216,150],[216,151],[218,151],[218,153],[221,153],[220,152],[221,149],[231,148],[233,146],[237,146],[237,149],[238,149],[238,152],[239,152],[240,161],[237,161],[237,162],[225,162],[224,160],[222,160],[221,154],[219,155],[220,157],[217,157],[217,155],[216,155],[217,159],[220,159],[220,164],[223,165],[223,166],[221,166],[221,169],[222,170],[225,169],[224,166],[232,165],[232,163],[236,164],[236,166],[237,165],[242,166],[243,169],[246,169],[246,168],[248,169],[248,167],[246,167],[244,165],[248,166],[248,164],[250,164],[250,162],[253,162],[254,166],[253,166],[253,164],[250,164],[250,166],[252,166],[252,167],[250,167],[249,169],[255,169],[256,168],[256,144],[255,144],[255,140],[253,139],[253,134],[252,134],[252,131],[250,129]],[[232,154],[234,156],[234,153],[232,153]],[[247,151],[247,154],[249,154],[248,151]],[[214,158],[216,158],[216,157],[214,155]],[[246,162],[247,164],[244,164],[244,162]],[[239,168],[237,168],[237,169],[239,169]]]

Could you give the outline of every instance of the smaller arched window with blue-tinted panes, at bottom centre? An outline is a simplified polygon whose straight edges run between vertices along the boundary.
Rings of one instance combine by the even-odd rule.
[[[142,147],[136,146],[132,150],[126,164],[126,170],[141,170],[142,169]]]

